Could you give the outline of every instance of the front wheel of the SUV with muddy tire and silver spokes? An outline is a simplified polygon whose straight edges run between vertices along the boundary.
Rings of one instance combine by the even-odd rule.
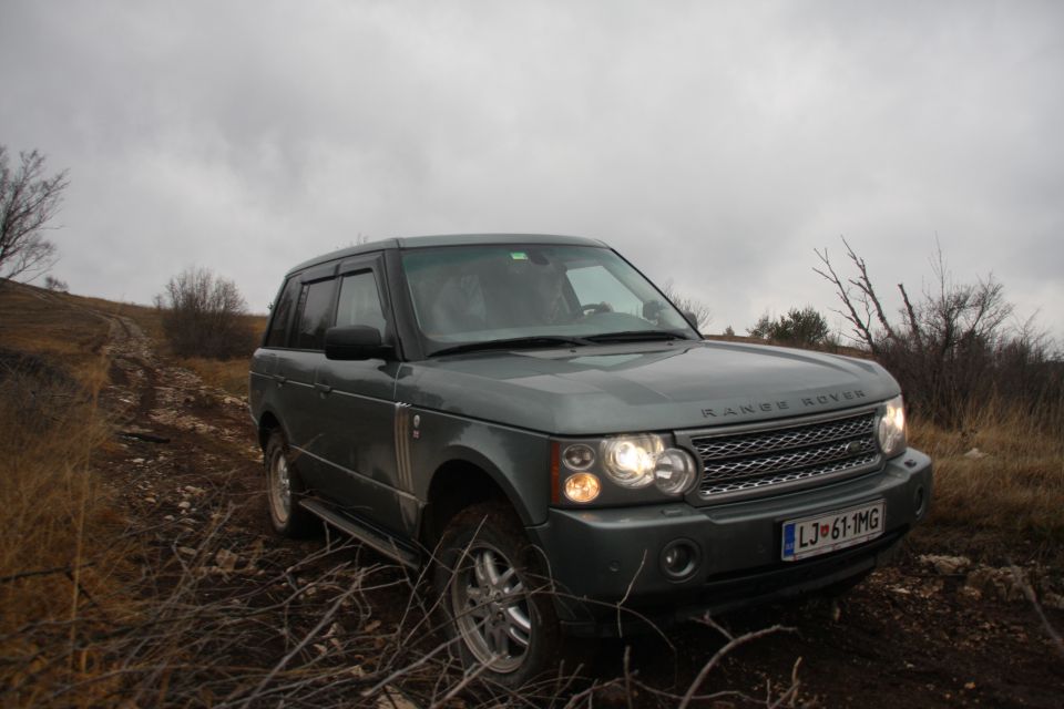
[[[557,662],[560,629],[550,579],[500,503],[468,507],[440,541],[433,587],[443,627],[463,666],[516,689]]]

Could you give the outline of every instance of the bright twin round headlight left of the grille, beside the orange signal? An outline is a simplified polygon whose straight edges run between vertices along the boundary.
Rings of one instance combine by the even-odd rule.
[[[622,487],[656,484],[667,494],[687,492],[695,480],[695,459],[675,448],[665,448],[659,435],[625,435],[602,442],[606,475]]]

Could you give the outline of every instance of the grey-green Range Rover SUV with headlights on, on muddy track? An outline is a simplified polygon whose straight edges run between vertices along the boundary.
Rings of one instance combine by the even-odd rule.
[[[930,503],[898,383],[689,317],[585,238],[296,266],[250,371],[274,527],[429,565],[456,653],[511,686],[565,634],[859,579]]]

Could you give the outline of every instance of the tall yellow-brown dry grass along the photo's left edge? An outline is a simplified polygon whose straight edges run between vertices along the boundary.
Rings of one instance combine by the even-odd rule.
[[[125,603],[122,520],[90,469],[109,438],[103,364],[80,374],[0,353],[0,677],[21,706],[102,662],[83,639]]]

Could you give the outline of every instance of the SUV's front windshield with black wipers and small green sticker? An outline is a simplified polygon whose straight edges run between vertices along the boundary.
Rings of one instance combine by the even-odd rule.
[[[402,266],[430,354],[492,343],[556,347],[699,337],[649,281],[607,248],[448,246],[405,251]]]

